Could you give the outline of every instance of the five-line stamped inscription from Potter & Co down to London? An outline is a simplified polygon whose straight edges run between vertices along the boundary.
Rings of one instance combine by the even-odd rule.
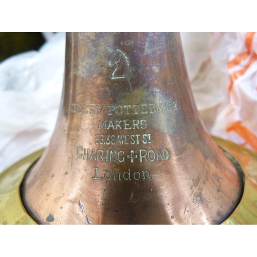
[[[77,157],[90,162],[129,162],[132,164],[166,161],[170,158],[170,152],[167,148],[152,147],[153,136],[146,131],[149,130],[147,119],[152,114],[176,110],[175,101],[123,105],[72,103],[71,112],[97,115],[99,118],[102,115],[105,117],[105,119],[98,119],[96,124],[99,133],[95,134],[95,147],[88,148],[79,145]],[[141,119],[137,119],[137,115]],[[130,119],[131,116],[133,119]],[[125,145],[130,145],[132,149],[122,149]],[[93,180],[152,179],[148,170],[132,172],[130,169],[126,171],[101,171],[99,167],[94,169]]]

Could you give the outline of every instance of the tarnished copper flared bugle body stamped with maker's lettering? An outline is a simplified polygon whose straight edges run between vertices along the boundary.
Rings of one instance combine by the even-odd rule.
[[[38,223],[219,224],[242,191],[198,118],[179,34],[67,34],[56,129],[22,187]]]

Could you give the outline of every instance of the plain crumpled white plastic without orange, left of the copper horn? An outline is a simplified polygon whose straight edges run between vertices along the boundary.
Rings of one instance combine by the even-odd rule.
[[[56,123],[65,33],[0,63],[0,172],[45,147]]]

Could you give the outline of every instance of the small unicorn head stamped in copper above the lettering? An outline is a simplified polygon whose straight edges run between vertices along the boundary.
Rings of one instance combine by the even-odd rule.
[[[128,84],[130,84],[131,90],[133,91],[130,83],[130,62],[128,61],[126,54],[120,49],[114,50],[110,46],[107,46],[107,48],[112,52],[112,58],[108,61],[108,65],[110,67],[115,67],[112,72],[111,79],[115,80],[126,78]]]

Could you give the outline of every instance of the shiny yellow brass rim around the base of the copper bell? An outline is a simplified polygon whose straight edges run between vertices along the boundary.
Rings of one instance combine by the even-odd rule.
[[[240,203],[221,224],[257,224],[257,154],[231,141],[212,138],[240,164],[245,179]],[[44,150],[30,154],[0,174],[0,224],[38,224],[23,205],[20,187],[26,172],[42,156]]]

